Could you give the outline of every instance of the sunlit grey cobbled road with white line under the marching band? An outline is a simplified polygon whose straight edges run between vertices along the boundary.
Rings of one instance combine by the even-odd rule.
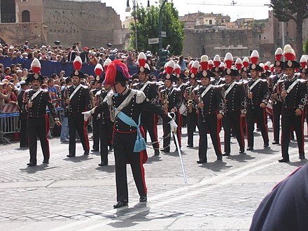
[[[161,126],[159,134],[162,137]],[[197,146],[197,133],[194,139]],[[216,161],[209,144],[209,162],[203,165],[196,163],[197,148],[186,148],[186,143],[183,128],[188,184],[183,181],[174,144],[172,153],[159,157],[149,149],[145,165],[148,202],[139,203],[127,167],[130,203],[118,210],[113,209],[116,186],[112,152],[110,165],[98,167],[99,153],[84,157],[78,144],[78,156],[66,158],[68,144],[55,138],[50,140],[50,164],[27,167],[28,150],[20,150],[17,143],[1,143],[0,230],[248,230],[262,198],[307,162],[297,158],[295,141],[290,144],[291,162],[277,162],[280,146],[263,148],[260,132],[255,132],[255,150],[244,154],[237,154],[239,148],[233,138],[234,154],[223,161]],[[39,150],[38,163],[42,160]]]

